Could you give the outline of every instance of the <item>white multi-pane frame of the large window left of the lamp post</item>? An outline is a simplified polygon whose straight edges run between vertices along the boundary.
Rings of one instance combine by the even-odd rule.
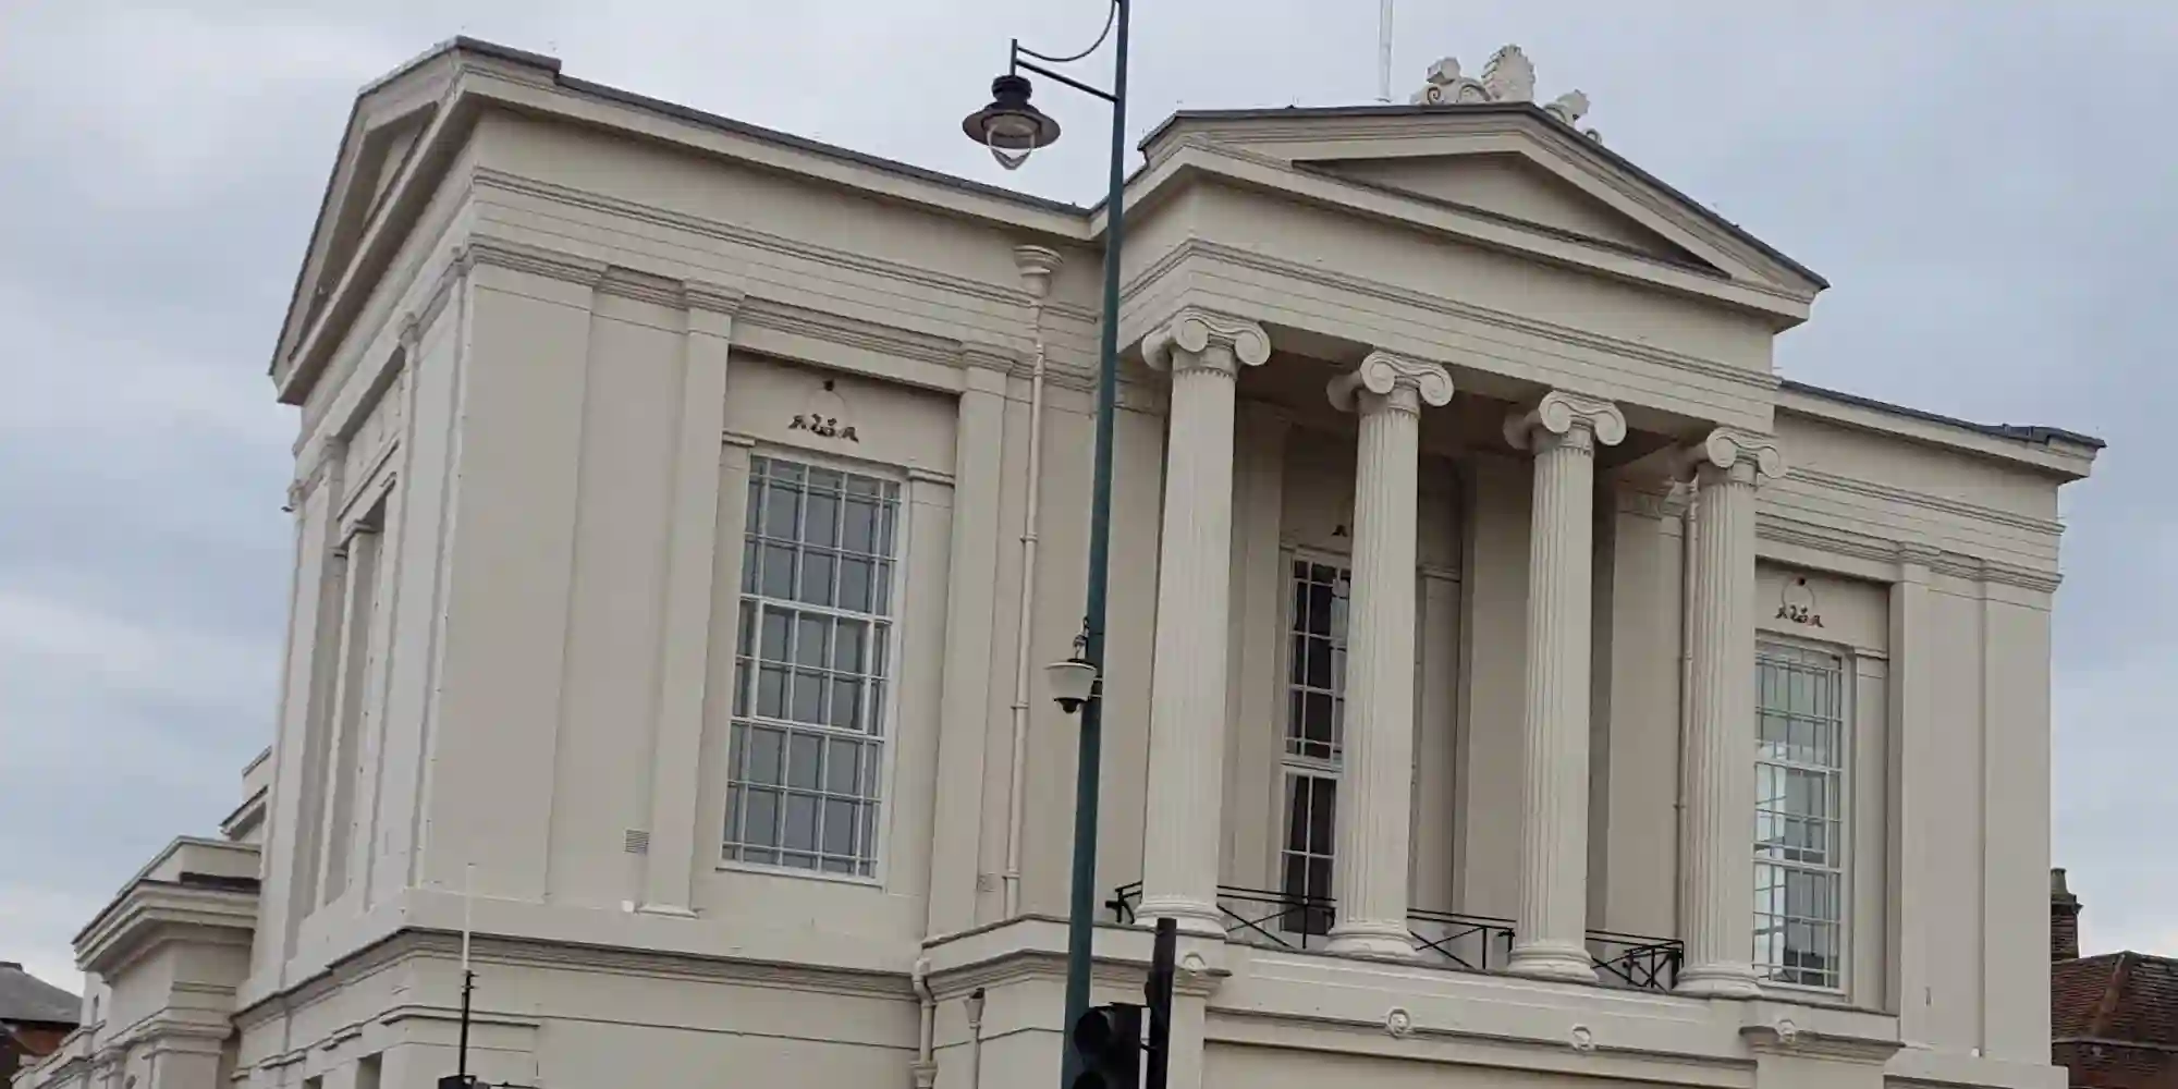
[[[895,521],[893,521],[893,553],[889,558],[889,562],[893,564],[891,612],[886,612],[882,616],[882,621],[886,625],[886,636],[884,636],[882,649],[884,649],[884,660],[886,660],[886,671],[889,673],[882,677],[882,682],[884,682],[884,699],[878,701],[878,706],[871,710],[878,717],[878,730],[873,734],[867,734],[865,741],[862,741],[865,745],[876,745],[876,749],[878,749],[878,771],[876,771],[876,775],[878,775],[878,788],[876,788],[876,797],[871,799],[876,804],[878,812],[876,812],[876,825],[871,830],[871,841],[869,841],[869,849],[873,854],[871,854],[871,871],[869,873],[839,873],[839,871],[825,871],[825,869],[802,869],[802,867],[791,867],[791,865],[782,865],[782,862],[754,862],[754,860],[745,860],[745,858],[732,858],[727,854],[727,852],[732,852],[732,845],[734,845],[734,841],[725,839],[725,830],[727,830],[730,821],[734,819],[734,767],[732,767],[734,730],[743,721],[741,714],[734,714],[734,703],[741,697],[745,684],[756,684],[754,671],[749,675],[743,675],[743,669],[741,669],[741,658],[743,658],[741,656],[741,612],[751,601],[756,601],[758,610],[762,610],[762,605],[767,601],[778,601],[778,599],[771,599],[771,597],[764,597],[760,592],[751,592],[751,590],[743,588],[743,586],[747,586],[747,579],[749,579],[749,568],[747,568],[747,536],[749,536],[749,529],[747,529],[747,525],[749,525],[749,518],[756,514],[751,510],[745,510],[743,512],[743,525],[736,531],[738,540],[734,542],[734,547],[743,549],[743,564],[741,564],[743,566],[743,571],[741,571],[743,584],[734,586],[734,623],[730,627],[730,632],[732,632],[730,638],[734,638],[734,645],[730,649],[730,658],[732,658],[732,671],[730,671],[730,675],[732,675],[732,688],[727,693],[725,754],[721,754],[721,758],[725,762],[723,764],[725,767],[725,771],[723,771],[723,775],[725,775],[725,810],[719,812],[719,819],[721,819],[719,825],[717,825],[717,832],[719,832],[719,856],[717,856],[714,869],[719,869],[719,871],[738,871],[738,873],[760,873],[760,876],[769,876],[769,878],[799,878],[799,880],[815,880],[815,882],[836,882],[836,884],[858,884],[858,886],[884,886],[886,880],[889,880],[889,869],[891,869],[889,858],[891,858],[891,841],[893,841],[893,836],[891,836],[893,808],[900,804],[897,784],[895,784],[895,764],[897,764],[897,749],[900,749],[900,736],[897,736],[897,730],[900,730],[900,686],[902,686],[902,675],[906,673],[906,658],[904,658],[904,653],[906,653],[906,627],[908,627],[908,605],[910,605],[908,555],[913,553],[913,547],[915,547],[913,544],[913,534],[910,534],[913,505],[915,505],[915,481],[910,479],[910,475],[902,466],[880,464],[880,462],[862,462],[862,460],[854,460],[854,457],[836,457],[836,455],[828,455],[823,451],[812,451],[812,449],[804,449],[804,446],[784,446],[784,444],[769,444],[767,442],[767,444],[756,444],[754,449],[749,449],[747,473],[743,473],[741,479],[736,481],[736,486],[743,490],[743,494],[747,494],[749,486],[758,479],[760,466],[764,462],[791,462],[791,464],[799,464],[804,468],[823,468],[823,470],[834,470],[834,473],[852,473],[852,475],[858,475],[858,477],[880,479],[880,481],[891,484],[891,486],[897,488],[897,492],[895,492],[897,514],[895,514]],[[802,612],[810,612],[810,614],[821,614],[821,616],[865,619],[865,621],[878,619],[876,614],[862,614],[862,612],[825,608],[825,605],[808,605],[808,603],[791,601],[791,599],[788,601],[780,601],[780,603],[786,605],[786,608],[793,608],[793,610],[802,610]],[[878,643],[873,640],[871,649],[876,649],[876,647],[878,647]],[[754,693],[751,693],[751,714],[749,714],[749,719],[756,721],[756,717],[754,717]],[[791,721],[782,721],[782,725],[786,725],[788,730],[806,730],[806,732],[817,732],[821,736],[832,736],[828,732],[828,727],[821,727],[821,725],[791,723]],[[839,732],[839,734],[845,736],[845,732]],[[784,754],[782,754],[782,760],[784,760]]]

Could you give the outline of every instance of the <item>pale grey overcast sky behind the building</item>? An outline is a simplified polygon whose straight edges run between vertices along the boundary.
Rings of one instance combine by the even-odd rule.
[[[1137,137],[1374,96],[1366,0],[1137,2]],[[170,836],[216,834],[270,741],[294,416],[264,375],[362,83],[466,33],[1102,189],[1100,107],[1059,87],[1076,137],[1019,174],[958,133],[1011,35],[1078,48],[1100,0],[129,7],[0,2],[0,960],[70,987],[76,928]],[[1394,91],[1507,41],[1542,98],[1588,91],[1612,148],[1830,277],[1788,377],[2110,440],[2065,492],[2056,860],[2089,950],[2178,954],[2178,7],[1405,0]]]

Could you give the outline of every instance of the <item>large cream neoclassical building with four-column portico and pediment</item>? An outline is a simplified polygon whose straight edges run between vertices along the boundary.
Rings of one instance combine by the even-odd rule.
[[[2102,444],[1779,379],[1825,281],[1583,111],[1501,50],[1141,144],[1100,1000],[1167,915],[1189,1089],[2058,1089]],[[464,926],[492,1082],[1050,1085],[1102,242],[481,41],[366,87],[261,832],[17,1089],[433,1085]]]

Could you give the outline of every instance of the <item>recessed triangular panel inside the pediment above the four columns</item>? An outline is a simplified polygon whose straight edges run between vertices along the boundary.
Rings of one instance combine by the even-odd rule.
[[[1516,152],[1337,159],[1326,174],[1559,231],[1660,261],[1710,268],[1686,246]]]

